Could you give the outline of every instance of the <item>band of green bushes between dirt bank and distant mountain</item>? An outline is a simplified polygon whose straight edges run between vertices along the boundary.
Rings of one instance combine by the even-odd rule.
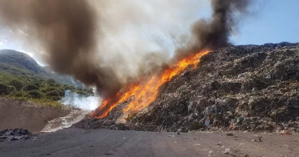
[[[36,78],[30,75],[12,75],[0,71],[0,95],[2,96],[59,106],[57,101],[64,97],[65,90],[71,90],[85,96],[94,95],[91,88],[79,88],[60,84],[53,79]]]

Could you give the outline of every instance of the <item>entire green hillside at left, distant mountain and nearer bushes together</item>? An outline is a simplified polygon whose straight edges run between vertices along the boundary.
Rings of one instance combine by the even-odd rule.
[[[25,53],[0,50],[0,96],[32,101],[42,105],[61,106],[58,100],[65,90],[94,95],[67,75],[52,73]]]

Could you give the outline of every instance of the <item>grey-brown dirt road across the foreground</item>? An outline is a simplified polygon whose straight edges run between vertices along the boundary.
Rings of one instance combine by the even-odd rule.
[[[69,128],[36,139],[2,142],[0,157],[208,157],[210,151],[212,157],[299,157],[297,135],[233,134]],[[227,148],[230,153],[223,154]]]

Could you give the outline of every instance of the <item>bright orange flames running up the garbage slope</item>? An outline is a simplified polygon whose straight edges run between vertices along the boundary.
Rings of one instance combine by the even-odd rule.
[[[193,67],[196,68],[200,61],[200,57],[208,52],[209,51],[201,51],[193,56],[184,58],[174,66],[166,69],[161,75],[153,75],[146,84],[127,86],[128,90],[126,90],[125,93],[118,92],[114,97],[105,99],[102,105],[91,113],[90,117],[104,118],[118,104],[127,101],[131,97],[133,99],[130,104],[123,110],[125,115],[145,109],[156,99],[158,89],[163,83],[170,81],[173,76],[180,74],[189,65],[193,65]],[[100,115],[98,115],[99,113]]]

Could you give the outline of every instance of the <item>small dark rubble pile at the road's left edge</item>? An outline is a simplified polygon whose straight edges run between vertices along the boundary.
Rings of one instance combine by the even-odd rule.
[[[0,131],[0,142],[16,141],[16,140],[28,140],[30,138],[37,137],[36,134],[32,134],[25,129],[6,129]]]

